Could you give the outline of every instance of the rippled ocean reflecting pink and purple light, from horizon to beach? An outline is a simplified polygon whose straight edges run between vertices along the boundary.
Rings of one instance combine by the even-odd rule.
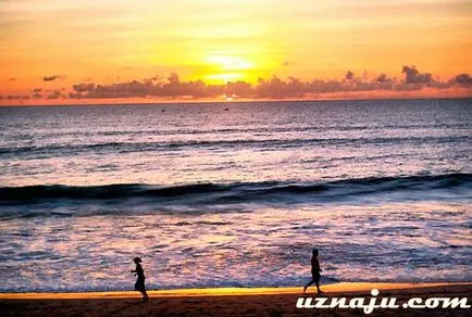
[[[0,107],[0,292],[471,281],[472,100]]]

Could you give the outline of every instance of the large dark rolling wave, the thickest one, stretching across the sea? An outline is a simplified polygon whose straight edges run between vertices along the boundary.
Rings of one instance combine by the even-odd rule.
[[[124,201],[150,199],[154,202],[178,200],[195,203],[262,202],[274,199],[316,198],[330,200],[339,196],[382,194],[398,191],[431,191],[452,188],[472,189],[472,174],[448,174],[436,176],[407,176],[345,179],[327,182],[235,182],[235,183],[190,183],[160,187],[154,185],[104,185],[63,186],[38,185],[0,188],[0,205],[40,203],[59,200]]]

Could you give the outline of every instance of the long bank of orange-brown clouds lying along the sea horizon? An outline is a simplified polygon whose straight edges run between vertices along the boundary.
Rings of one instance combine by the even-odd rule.
[[[472,76],[458,74],[449,80],[433,79],[430,73],[421,73],[414,66],[400,68],[405,77],[397,79],[385,73],[368,78],[357,77],[351,71],[341,79],[301,80],[295,77],[282,79],[277,76],[260,78],[256,84],[244,80],[221,85],[209,85],[203,80],[182,80],[177,73],[153,76],[141,80],[113,84],[77,83],[70,89],[35,88],[27,96],[34,100],[52,99],[115,99],[115,98],[158,98],[158,99],[212,99],[234,96],[239,99],[303,99],[303,98],[347,98],[348,96],[424,96],[425,91],[456,89],[471,96]],[[420,90],[423,90],[419,92]],[[414,92],[418,91],[418,92]],[[443,93],[443,92],[440,92]],[[446,92],[444,92],[446,93]],[[410,94],[411,96],[411,94]],[[3,96],[2,100],[26,99],[25,96]]]

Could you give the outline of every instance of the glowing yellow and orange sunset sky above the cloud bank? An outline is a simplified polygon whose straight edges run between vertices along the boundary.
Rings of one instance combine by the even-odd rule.
[[[0,94],[172,73],[398,81],[405,65],[446,83],[472,73],[471,16],[470,0],[1,0]]]

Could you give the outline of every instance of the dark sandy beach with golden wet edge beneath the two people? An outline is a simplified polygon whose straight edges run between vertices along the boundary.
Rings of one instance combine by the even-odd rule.
[[[401,304],[411,297],[468,297],[472,283],[337,283],[323,286],[323,297],[397,297]],[[310,289],[310,291],[312,291]],[[301,288],[188,289],[150,291],[141,303],[137,292],[95,293],[1,293],[2,316],[362,316],[360,308],[296,307]],[[313,296],[307,293],[306,297]],[[471,308],[377,308],[371,316],[470,316]]]

